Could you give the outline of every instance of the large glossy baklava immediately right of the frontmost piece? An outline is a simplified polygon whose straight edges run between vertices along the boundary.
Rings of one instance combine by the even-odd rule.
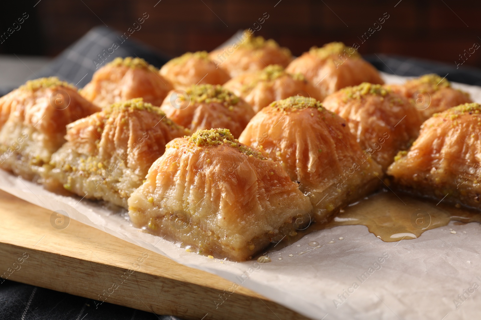
[[[381,166],[361,150],[346,121],[313,98],[273,102],[254,116],[239,141],[281,163],[309,196],[318,222],[381,182]]]

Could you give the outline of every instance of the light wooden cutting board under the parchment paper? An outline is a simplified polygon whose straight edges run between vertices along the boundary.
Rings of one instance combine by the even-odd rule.
[[[228,280],[75,220],[54,228],[51,215],[0,191],[3,278],[183,319],[307,319],[243,287],[216,306]]]

